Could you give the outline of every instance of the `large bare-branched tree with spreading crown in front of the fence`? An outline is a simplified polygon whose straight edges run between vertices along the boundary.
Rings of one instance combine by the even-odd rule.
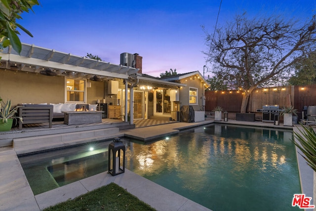
[[[279,17],[237,15],[213,35],[206,33],[206,53],[213,73],[230,78],[244,92],[241,113],[246,112],[251,91],[289,73],[308,53],[315,51],[316,17],[304,24]]]

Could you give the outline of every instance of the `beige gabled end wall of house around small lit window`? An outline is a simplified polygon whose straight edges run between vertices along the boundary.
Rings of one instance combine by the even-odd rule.
[[[189,90],[190,87],[197,88],[197,105],[192,105],[195,111],[199,111],[202,108],[201,97],[203,96],[204,83],[195,76],[195,78],[190,79],[190,77],[181,79],[181,84],[187,84],[180,88],[179,98],[180,98],[180,108],[184,105],[190,105],[189,103]]]

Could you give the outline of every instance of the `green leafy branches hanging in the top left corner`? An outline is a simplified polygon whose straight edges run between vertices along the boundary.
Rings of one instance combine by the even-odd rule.
[[[16,19],[22,19],[22,12],[29,12],[34,5],[39,4],[38,0],[0,0],[0,49],[12,45],[16,52],[21,52],[22,44],[17,36],[20,33],[16,28],[20,28],[31,37],[33,35],[16,23]]]

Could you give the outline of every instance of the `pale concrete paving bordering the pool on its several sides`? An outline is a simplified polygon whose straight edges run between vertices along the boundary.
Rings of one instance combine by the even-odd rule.
[[[213,122],[208,120],[199,123],[174,123],[171,125],[127,129],[122,132],[126,136],[143,138],[144,141],[147,141]],[[221,123],[276,127],[273,124],[262,122],[250,123],[230,120],[229,122]],[[277,128],[289,129],[291,127],[277,126]],[[300,155],[298,155],[298,163],[303,193],[308,197],[313,197],[313,170],[306,165],[306,162]],[[110,182],[115,182],[127,189],[128,192],[158,211],[209,210],[127,169],[125,169],[125,173],[114,177],[107,172],[103,172],[36,196],[34,196],[29,186],[14,148],[0,148],[0,169],[0,210],[5,211],[40,211],[45,207],[73,199]]]

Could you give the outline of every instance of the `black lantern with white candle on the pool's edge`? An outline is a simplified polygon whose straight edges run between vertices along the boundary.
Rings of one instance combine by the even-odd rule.
[[[109,166],[108,172],[115,176],[125,171],[125,145],[120,138],[115,138],[109,144]],[[121,166],[122,164],[122,166]]]

